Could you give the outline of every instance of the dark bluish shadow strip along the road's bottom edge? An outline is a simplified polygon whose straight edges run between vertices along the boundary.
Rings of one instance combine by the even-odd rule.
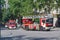
[[[25,37],[25,35],[21,35],[15,37],[0,38],[0,40],[60,40],[60,38],[57,37],[33,38],[33,37]]]

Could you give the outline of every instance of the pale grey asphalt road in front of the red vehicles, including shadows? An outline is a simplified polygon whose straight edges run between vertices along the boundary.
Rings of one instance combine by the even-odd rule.
[[[26,31],[22,28],[16,30],[1,29],[0,40],[60,40],[60,28],[51,31]]]

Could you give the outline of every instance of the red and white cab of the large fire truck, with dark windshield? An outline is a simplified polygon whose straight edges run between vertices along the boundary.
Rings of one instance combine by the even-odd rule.
[[[40,18],[40,30],[50,30],[53,27],[53,18]]]

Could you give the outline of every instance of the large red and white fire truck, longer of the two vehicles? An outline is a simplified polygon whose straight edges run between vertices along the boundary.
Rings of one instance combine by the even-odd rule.
[[[53,18],[39,18],[39,23],[32,18],[23,18],[22,27],[26,30],[50,30],[53,27]]]

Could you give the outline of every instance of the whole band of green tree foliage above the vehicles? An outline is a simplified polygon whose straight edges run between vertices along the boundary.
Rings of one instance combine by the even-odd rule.
[[[1,1],[1,4],[4,5],[4,0]],[[36,0],[36,2],[33,1],[34,0],[8,0],[9,9],[2,9],[2,19],[5,20],[7,19],[7,17],[8,19],[10,19],[10,17],[12,17],[11,15],[14,16],[14,19],[19,15],[34,15],[33,8],[41,10],[42,8],[45,9],[45,6],[47,6],[45,12],[50,12],[54,7],[60,8],[60,0]],[[54,4],[55,1],[57,2],[57,4]]]

